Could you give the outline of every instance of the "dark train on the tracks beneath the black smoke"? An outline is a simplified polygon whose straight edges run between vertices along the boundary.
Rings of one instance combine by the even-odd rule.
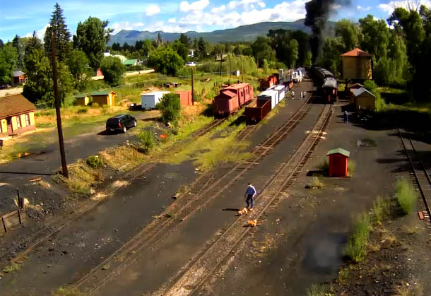
[[[338,96],[338,82],[331,71],[312,66],[310,75],[317,82],[317,93],[324,97],[326,102],[336,102]]]

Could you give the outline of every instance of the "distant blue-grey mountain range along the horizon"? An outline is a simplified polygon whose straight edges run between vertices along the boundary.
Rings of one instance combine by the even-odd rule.
[[[326,35],[333,35],[333,22],[328,23]],[[191,40],[194,38],[203,37],[204,40],[211,43],[218,42],[235,42],[235,41],[254,41],[258,36],[266,36],[269,30],[286,29],[286,30],[302,30],[310,32],[309,28],[304,25],[304,20],[295,20],[294,22],[264,22],[255,23],[252,25],[241,25],[237,28],[215,30],[213,32],[185,32]],[[170,33],[163,31],[149,32],[149,31],[136,31],[136,30],[121,30],[117,34],[111,36],[110,42],[107,43],[111,46],[117,42],[123,45],[127,42],[129,45],[135,45],[138,40],[155,40],[158,33],[162,35],[163,40],[173,41],[179,38],[179,33]]]

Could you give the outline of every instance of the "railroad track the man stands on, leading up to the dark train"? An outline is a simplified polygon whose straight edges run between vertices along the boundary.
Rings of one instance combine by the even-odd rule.
[[[232,254],[232,250],[247,235],[251,229],[251,227],[244,227],[244,225],[247,225],[247,220],[259,220],[268,207],[278,202],[283,193],[287,193],[288,188],[296,181],[297,176],[312,155],[317,143],[319,143],[319,138],[323,134],[324,129],[326,129],[331,114],[331,105],[326,105],[324,112],[321,113],[317,123],[314,125],[314,131],[317,131],[317,134],[308,134],[290,160],[281,165],[278,172],[271,178],[271,181],[264,186],[261,194],[256,196],[256,201],[259,202],[256,203],[258,206],[255,207],[253,214],[238,217],[223,234],[217,237],[208,248],[204,249],[187,266],[185,271],[182,271],[182,276],[179,276],[167,291],[158,291],[160,294],[175,296],[192,295],[201,288],[208,277],[215,273],[218,266]]]

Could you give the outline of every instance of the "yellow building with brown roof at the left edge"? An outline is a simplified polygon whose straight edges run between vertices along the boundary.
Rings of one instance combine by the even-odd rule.
[[[33,131],[36,107],[23,95],[0,97],[0,136],[14,136]]]

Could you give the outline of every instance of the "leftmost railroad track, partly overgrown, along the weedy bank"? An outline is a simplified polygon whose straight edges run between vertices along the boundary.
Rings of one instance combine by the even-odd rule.
[[[184,139],[184,142],[180,141],[181,144],[183,145],[184,143],[187,143],[188,141],[193,141],[196,137],[203,136],[204,134],[207,134],[209,131],[215,129],[216,126],[219,126],[224,121],[225,121],[225,119],[214,119],[209,124],[206,124],[206,126],[203,126],[198,131],[194,131],[194,133],[187,136],[187,138]],[[173,150],[175,150],[175,151],[179,150],[179,148],[181,147],[181,145],[179,145],[178,143],[175,143],[174,146],[175,147],[173,148]],[[172,150],[170,150],[170,151],[172,153]],[[133,182],[135,179],[142,177],[143,174],[146,174],[147,172],[152,170],[153,167],[155,167],[155,165],[157,165],[157,163],[158,162],[152,162],[152,163],[147,163],[145,165],[140,165],[140,166],[136,167],[135,169],[131,170],[130,172],[126,173],[123,177],[119,178],[117,181],[121,181],[121,180],[126,179],[129,182]],[[199,178],[196,181],[199,181]],[[27,256],[31,251],[33,251],[33,249],[35,249],[36,247],[39,247],[41,244],[46,242],[50,237],[57,234],[60,230],[62,230],[64,227],[66,227],[67,225],[72,223],[74,220],[76,220],[77,218],[81,217],[85,213],[88,213],[88,211],[95,208],[95,206],[97,206],[103,200],[103,199],[98,198],[98,196],[112,195],[118,189],[119,189],[119,187],[115,187],[112,184],[110,184],[105,189],[102,189],[97,194],[94,194],[93,196],[91,196],[90,200],[95,199],[95,200],[97,200],[96,202],[90,202],[89,201],[87,203],[81,204],[79,206],[79,208],[72,208],[70,211],[68,211],[64,215],[61,215],[59,218],[55,219],[54,221],[51,221],[50,223],[47,223],[47,225],[42,226],[40,228],[40,230],[37,230],[36,232],[33,233],[33,237],[37,237],[38,235],[42,235],[42,233],[44,231],[47,231],[47,234],[42,235],[42,237],[39,239],[35,239],[36,242],[34,242],[33,244],[30,244],[30,247],[28,247],[27,249],[22,251],[20,254],[18,254],[18,256],[11,259],[11,263],[23,260],[23,258],[25,256]],[[59,227],[54,227],[54,225],[59,224],[59,223],[61,224]],[[52,228],[52,227],[54,227],[54,229],[49,230],[49,228]]]

